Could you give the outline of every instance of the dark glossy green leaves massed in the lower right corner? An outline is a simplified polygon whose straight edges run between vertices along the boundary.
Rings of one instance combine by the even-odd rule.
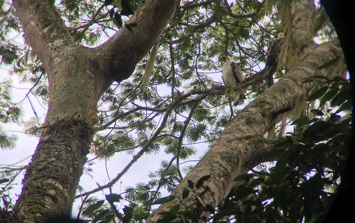
[[[327,81],[328,92],[332,89],[328,85],[343,91],[350,87],[348,80],[340,78],[317,76],[312,81],[320,79]],[[353,96],[343,97],[337,104],[342,106],[348,101],[354,105]],[[352,148],[353,123],[347,115],[349,109],[344,110],[342,116],[332,109],[315,109],[311,112],[317,118],[295,120],[293,124],[303,124],[306,128],[298,135],[287,136],[266,154],[265,158],[277,160],[275,166],[235,177],[234,181],[246,184],[231,190],[216,212],[213,206],[204,207],[196,200],[185,211],[161,213],[163,217],[159,222],[230,222],[229,219],[235,222],[323,222],[342,182]],[[198,180],[196,187],[208,177]],[[195,187],[192,181],[188,184],[190,189],[184,190],[183,199],[189,195],[187,191]],[[200,215],[202,211],[213,215],[207,219]]]

